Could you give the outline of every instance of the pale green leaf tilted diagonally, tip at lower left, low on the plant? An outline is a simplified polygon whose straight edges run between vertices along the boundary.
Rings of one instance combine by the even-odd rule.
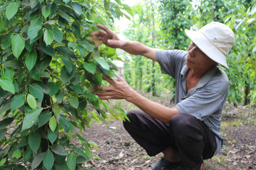
[[[43,108],[36,108],[28,112],[23,119],[22,131],[32,127],[37,120],[37,117],[42,112]]]

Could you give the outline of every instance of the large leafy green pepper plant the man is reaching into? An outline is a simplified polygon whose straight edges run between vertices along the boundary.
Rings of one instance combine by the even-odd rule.
[[[0,2],[0,168],[82,168],[97,148],[82,136],[91,120],[127,118],[93,95],[118,56],[89,42],[124,10],[120,0]]]

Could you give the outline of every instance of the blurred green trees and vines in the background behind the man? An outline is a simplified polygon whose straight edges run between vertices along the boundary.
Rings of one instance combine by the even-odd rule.
[[[198,30],[212,21],[228,25],[236,36],[234,47],[227,56],[229,69],[220,66],[230,80],[228,102],[235,106],[243,104],[255,107],[255,2],[255,0],[147,0],[132,7],[135,15],[124,34],[127,39],[140,41],[150,47],[187,51],[190,39],[185,35],[185,29]],[[154,12],[150,3],[154,4]],[[155,29],[152,28],[153,22]],[[154,31],[156,37],[152,44]],[[127,54],[126,56],[124,76],[133,88],[152,91],[152,95],[159,95],[161,91],[175,95],[175,80],[163,75],[158,64],[152,67],[151,61],[142,56]],[[152,87],[152,83],[148,83],[152,82],[152,77],[155,88]]]

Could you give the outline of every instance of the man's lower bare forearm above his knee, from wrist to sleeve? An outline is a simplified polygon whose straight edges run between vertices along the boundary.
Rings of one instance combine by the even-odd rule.
[[[180,113],[177,108],[165,107],[154,101],[146,99],[134,90],[127,101],[137,105],[137,107],[139,107],[143,112],[164,123],[169,123],[173,116]]]

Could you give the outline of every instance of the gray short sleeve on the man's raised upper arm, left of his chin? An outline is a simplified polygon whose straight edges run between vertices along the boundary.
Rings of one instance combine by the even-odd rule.
[[[184,66],[186,56],[187,52],[178,49],[156,50],[156,60],[161,67],[162,73],[169,74],[174,78]]]

